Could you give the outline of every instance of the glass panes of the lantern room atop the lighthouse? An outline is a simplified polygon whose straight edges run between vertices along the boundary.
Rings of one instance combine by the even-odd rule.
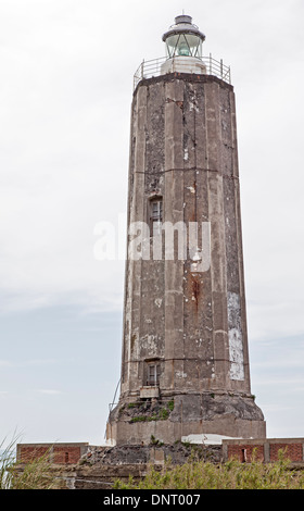
[[[202,58],[202,39],[194,34],[175,34],[166,39],[167,57]]]

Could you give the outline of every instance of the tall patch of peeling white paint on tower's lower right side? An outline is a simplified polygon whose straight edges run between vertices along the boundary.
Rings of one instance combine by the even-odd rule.
[[[244,379],[243,336],[241,326],[240,296],[228,292],[228,338],[230,379]]]

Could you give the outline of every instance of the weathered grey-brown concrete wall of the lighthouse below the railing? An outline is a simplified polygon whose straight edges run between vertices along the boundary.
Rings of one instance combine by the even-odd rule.
[[[164,248],[159,260],[149,258],[149,234],[143,258],[128,259],[118,411],[139,399],[147,362],[154,359],[161,397],[173,397],[176,410],[188,402],[195,409],[193,419],[182,414],[187,434],[201,428],[265,436],[250,387],[236,105],[228,84],[180,74],[139,84],[131,109],[129,226],[149,224],[150,200],[156,197],[163,200],[163,222],[210,222],[211,265],[193,273],[189,253],[178,258],[177,242],[174,260],[164,258]],[[210,394],[220,406],[206,417]],[[153,428],[167,428],[174,440],[179,422],[135,425],[116,411],[109,435],[118,443],[138,441],[147,431],[149,441]]]

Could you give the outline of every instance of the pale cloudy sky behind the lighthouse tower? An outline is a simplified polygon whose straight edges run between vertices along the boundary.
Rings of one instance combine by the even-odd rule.
[[[304,437],[302,0],[0,0],[0,440],[103,443],[121,371],[132,76],[176,15],[231,65],[252,392]],[[125,233],[123,233],[125,236]]]

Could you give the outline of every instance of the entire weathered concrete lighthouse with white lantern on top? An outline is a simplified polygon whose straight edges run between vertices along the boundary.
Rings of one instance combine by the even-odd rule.
[[[188,15],[143,62],[131,105],[117,445],[263,438],[251,394],[236,105]]]

